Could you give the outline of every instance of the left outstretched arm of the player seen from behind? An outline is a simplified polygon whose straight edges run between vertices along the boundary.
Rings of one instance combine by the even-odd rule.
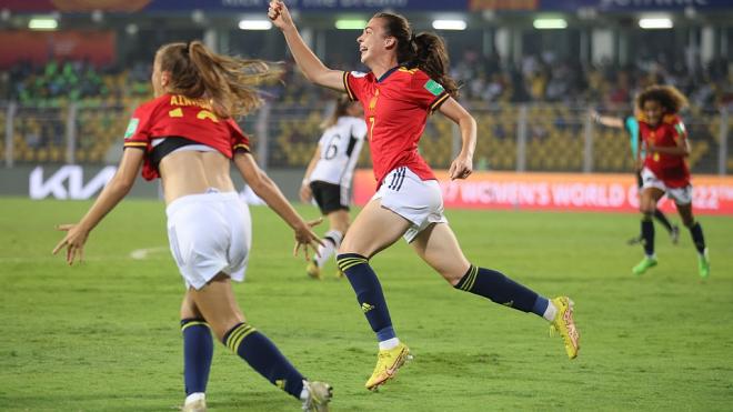
[[[142,164],[143,155],[144,151],[139,149],[124,150],[117,173],[107,183],[81,221],[76,224],[60,224],[57,227],[57,229],[66,231],[67,235],[53,248],[53,254],[67,247],[67,262],[70,265],[73,264],[77,255],[79,261],[83,259],[84,243],[89,232],[130,192]]]

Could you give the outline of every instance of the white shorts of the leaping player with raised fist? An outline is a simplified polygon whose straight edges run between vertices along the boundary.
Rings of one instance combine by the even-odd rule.
[[[422,180],[410,169],[400,167],[386,174],[372,200],[412,222],[402,235],[408,243],[432,223],[446,223],[443,195],[436,180]]]

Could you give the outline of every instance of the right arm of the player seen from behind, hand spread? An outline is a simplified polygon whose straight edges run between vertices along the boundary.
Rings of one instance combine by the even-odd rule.
[[[318,251],[321,240],[311,228],[320,223],[320,220],[315,222],[305,222],[303,218],[298,214],[295,209],[290,205],[290,202],[288,202],[288,199],[282,194],[280,188],[278,188],[272,179],[270,179],[270,177],[257,165],[254,158],[252,158],[250,153],[237,152],[234,154],[234,165],[237,165],[237,169],[252,191],[262,198],[270,209],[274,210],[274,212],[295,231],[294,254],[298,254],[301,247],[305,252],[307,259],[309,257],[309,247],[313,248],[314,251]]]

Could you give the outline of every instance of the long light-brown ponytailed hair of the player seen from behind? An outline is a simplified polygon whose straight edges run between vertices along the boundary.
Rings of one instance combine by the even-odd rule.
[[[253,86],[280,78],[282,70],[262,60],[218,54],[194,40],[158,50],[161,71],[171,73],[170,91],[191,99],[210,99],[221,118],[243,115],[262,104]]]

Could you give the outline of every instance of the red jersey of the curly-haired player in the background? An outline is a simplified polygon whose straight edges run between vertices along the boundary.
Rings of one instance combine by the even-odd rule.
[[[682,120],[672,114],[665,115],[656,128],[652,128],[643,117],[640,117],[639,134],[646,147],[674,148],[681,139],[683,141],[687,139]],[[647,150],[644,167],[654,172],[656,178],[670,189],[684,188],[690,184],[690,169],[682,155],[652,153]]]

